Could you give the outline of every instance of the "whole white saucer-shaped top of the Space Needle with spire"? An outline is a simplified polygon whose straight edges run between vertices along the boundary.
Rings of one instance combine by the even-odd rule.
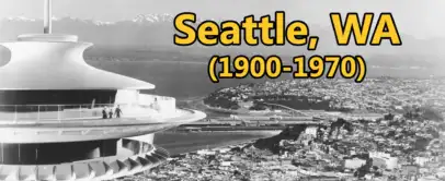
[[[92,44],[52,34],[50,5],[45,0],[44,34],[0,44],[11,51],[0,68],[0,180],[107,180],[164,161],[153,133],[205,113],[140,94],[150,83],[87,64]],[[103,119],[117,107],[121,117]]]

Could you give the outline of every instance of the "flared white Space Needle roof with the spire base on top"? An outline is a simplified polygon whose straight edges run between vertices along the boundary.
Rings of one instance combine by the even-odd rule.
[[[50,3],[45,4],[44,34],[22,35],[2,43],[11,51],[0,68],[1,90],[28,89],[152,89],[155,85],[89,65],[83,52],[90,43],[76,35],[50,33]]]

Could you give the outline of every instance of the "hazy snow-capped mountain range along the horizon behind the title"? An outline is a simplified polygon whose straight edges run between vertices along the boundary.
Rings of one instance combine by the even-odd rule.
[[[96,46],[132,46],[132,47],[156,47],[168,46],[178,47],[173,44],[173,36],[176,33],[172,14],[140,14],[134,19],[118,22],[103,22],[96,20],[83,20],[76,17],[53,17],[53,32],[61,34],[78,35],[80,40],[91,41]],[[204,20],[197,20],[196,26]],[[213,20],[220,22],[218,20]],[[310,53],[365,53],[365,55],[403,55],[403,53],[423,53],[434,55],[438,51],[438,46],[434,40],[419,40],[411,36],[401,35],[403,46],[391,47],[388,44],[383,47],[339,47],[334,40],[333,32],[320,26],[310,26],[310,35],[319,36],[317,52]],[[43,32],[43,20],[27,19],[24,16],[7,17],[0,21],[0,41],[15,40],[19,35],[34,34]],[[259,34],[256,34],[259,35]],[[425,45],[425,46],[421,46]],[[434,45],[434,46],[433,46]],[[198,46],[198,45],[195,45]],[[202,47],[202,46],[201,46]],[[220,48],[216,47],[206,47]],[[226,47],[227,48],[227,47]],[[246,49],[259,47],[228,47],[235,51],[243,52]],[[240,49],[242,48],[242,50]],[[273,53],[299,55],[306,50],[306,47],[284,46],[267,47]],[[263,49],[260,50],[260,52]],[[213,50],[214,51],[214,50]]]

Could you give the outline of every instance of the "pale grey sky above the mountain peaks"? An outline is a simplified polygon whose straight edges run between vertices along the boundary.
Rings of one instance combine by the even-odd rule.
[[[190,11],[205,19],[240,19],[285,11],[293,20],[330,26],[330,12],[391,12],[399,31],[417,38],[445,37],[445,0],[53,0],[53,14],[115,22],[139,14]],[[42,19],[44,0],[0,0],[0,19]]]

